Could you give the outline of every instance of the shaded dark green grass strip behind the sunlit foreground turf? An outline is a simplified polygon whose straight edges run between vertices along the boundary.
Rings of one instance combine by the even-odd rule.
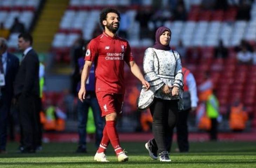
[[[56,157],[92,157],[95,155],[96,148],[93,143],[87,144],[86,154],[75,153],[77,144],[75,143],[49,143],[43,145],[43,150],[34,154],[21,154],[17,152],[18,143],[9,143],[7,154],[0,154],[1,158],[56,158]],[[147,150],[142,142],[124,142],[123,147],[127,149],[129,156],[148,156]],[[176,146],[173,146],[175,149]],[[191,152],[176,153],[171,152],[172,156],[254,156],[256,155],[256,145],[251,142],[205,142],[191,143]],[[107,156],[115,156],[113,148],[107,150]],[[224,159],[224,158],[221,158]]]

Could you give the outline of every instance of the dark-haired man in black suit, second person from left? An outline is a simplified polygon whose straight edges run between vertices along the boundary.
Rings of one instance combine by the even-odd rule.
[[[23,51],[19,71],[14,82],[21,126],[22,153],[33,153],[36,147],[38,121],[36,119],[36,100],[39,98],[39,59],[32,48],[31,35],[21,33],[18,47]]]

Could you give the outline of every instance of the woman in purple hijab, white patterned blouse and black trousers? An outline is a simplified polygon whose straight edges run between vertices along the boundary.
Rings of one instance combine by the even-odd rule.
[[[156,41],[144,54],[143,69],[150,89],[142,87],[138,108],[149,107],[153,117],[154,139],[145,146],[152,159],[169,162],[167,152],[171,130],[177,122],[178,110],[182,110],[183,75],[181,59],[177,51],[171,50],[171,30],[160,27]],[[158,151],[157,151],[158,149]]]

